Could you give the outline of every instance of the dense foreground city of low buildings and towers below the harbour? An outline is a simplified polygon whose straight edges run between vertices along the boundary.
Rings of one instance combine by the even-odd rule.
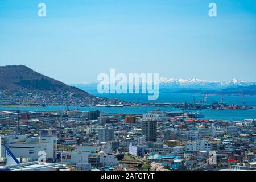
[[[0,111],[6,170],[255,170],[256,120],[193,113]],[[46,152],[45,161],[39,159]],[[211,155],[213,154],[213,155]]]

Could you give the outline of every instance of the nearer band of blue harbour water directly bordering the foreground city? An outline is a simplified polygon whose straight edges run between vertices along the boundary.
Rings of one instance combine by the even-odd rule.
[[[69,106],[69,109],[79,109],[81,111],[93,111],[100,110],[105,113],[123,113],[123,114],[143,114],[156,108],[160,108],[163,111],[180,111],[174,107],[74,107]],[[0,110],[16,110],[17,107],[0,107]],[[57,111],[65,110],[66,106],[47,106],[47,107],[19,107],[22,111]],[[244,120],[244,119],[256,119],[256,109],[250,110],[198,110],[205,114],[205,119],[222,119],[222,120]]]

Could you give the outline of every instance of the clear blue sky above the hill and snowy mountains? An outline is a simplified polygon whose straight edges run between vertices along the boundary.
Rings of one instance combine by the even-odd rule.
[[[97,81],[110,68],[256,81],[256,1],[0,0],[0,65],[9,64],[67,84]]]

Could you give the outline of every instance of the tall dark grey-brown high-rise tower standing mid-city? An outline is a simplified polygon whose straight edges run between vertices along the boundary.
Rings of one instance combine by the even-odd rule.
[[[156,141],[157,121],[146,119],[142,121],[142,134],[146,136],[147,141]]]

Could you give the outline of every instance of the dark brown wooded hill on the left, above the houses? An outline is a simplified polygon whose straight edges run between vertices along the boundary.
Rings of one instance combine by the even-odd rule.
[[[70,92],[75,96],[88,97],[87,92],[44,76],[24,65],[0,67],[0,91],[9,92]]]

